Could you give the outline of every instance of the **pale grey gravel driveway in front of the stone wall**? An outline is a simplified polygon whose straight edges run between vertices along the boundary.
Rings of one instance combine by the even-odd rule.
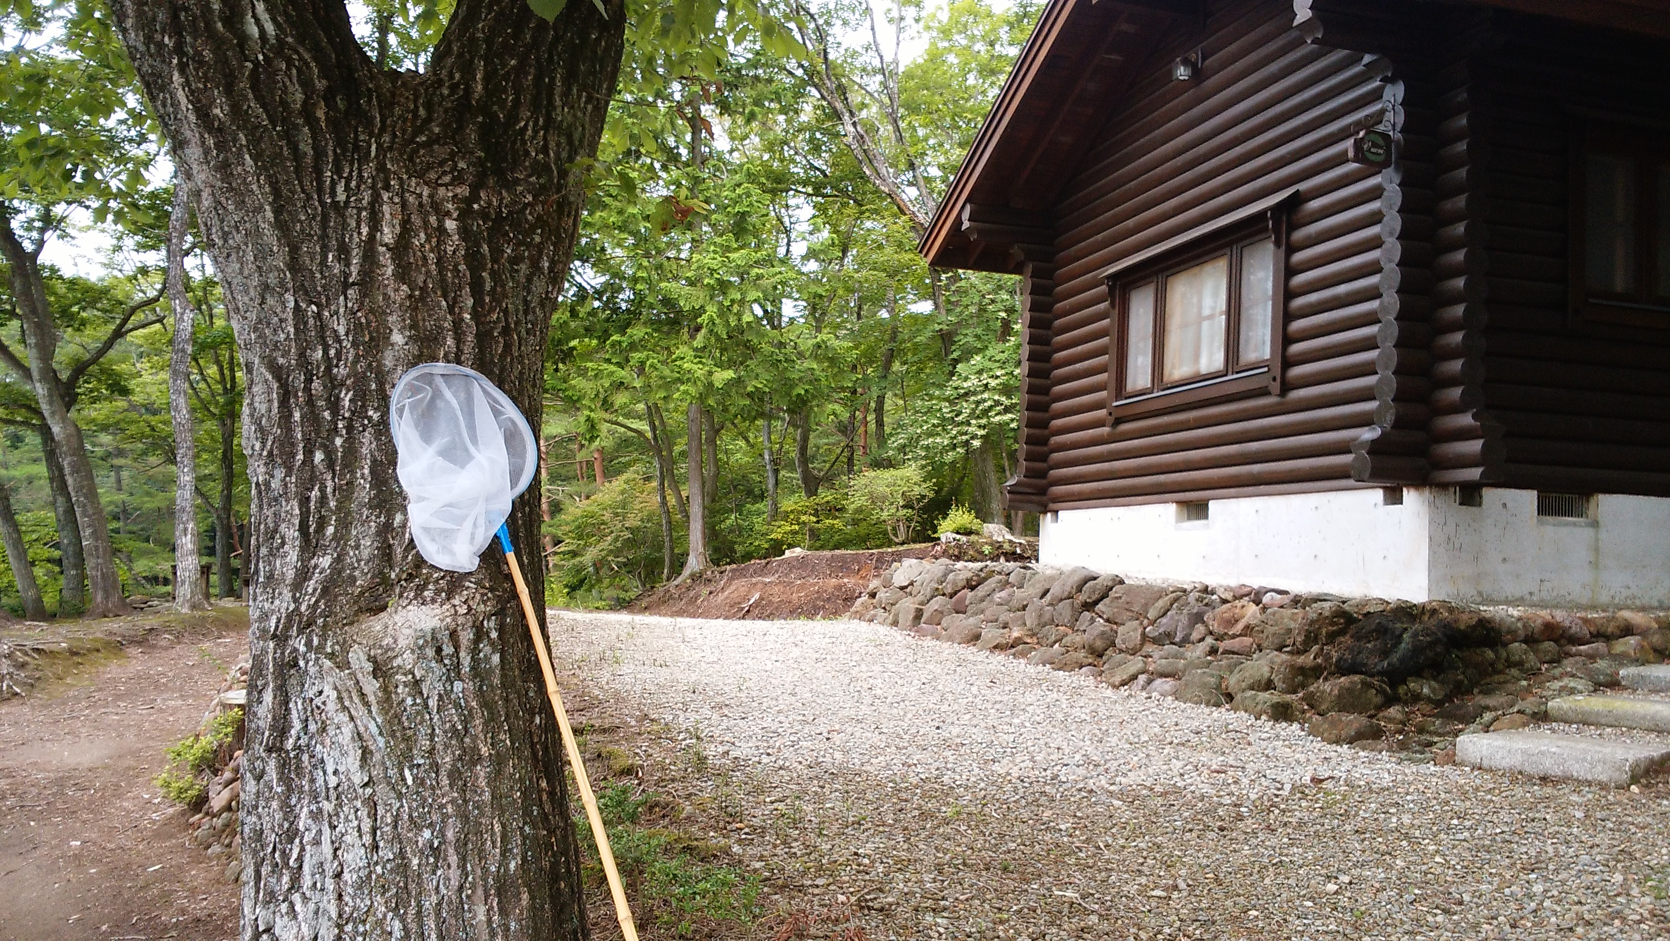
[[[1670,782],[1328,746],[852,621],[551,612],[740,782],[733,848],[870,938],[1670,938]]]

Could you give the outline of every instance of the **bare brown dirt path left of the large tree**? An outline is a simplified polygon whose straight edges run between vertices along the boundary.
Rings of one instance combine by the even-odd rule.
[[[245,642],[235,619],[177,622],[0,702],[0,939],[237,936],[224,861],[187,843],[152,777]]]

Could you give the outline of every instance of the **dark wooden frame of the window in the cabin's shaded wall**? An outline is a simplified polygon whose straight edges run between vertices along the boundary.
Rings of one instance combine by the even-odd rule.
[[[1670,167],[1670,130],[1598,120],[1578,123],[1568,167],[1566,287],[1571,314],[1595,324],[1670,330],[1670,295],[1655,294],[1660,235],[1657,169]],[[1635,294],[1592,292],[1588,287],[1588,155],[1628,153],[1635,159]]]

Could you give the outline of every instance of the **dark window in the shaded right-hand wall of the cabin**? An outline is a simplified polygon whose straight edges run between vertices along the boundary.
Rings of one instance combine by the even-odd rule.
[[[1571,177],[1576,312],[1670,329],[1670,135],[1593,125]]]

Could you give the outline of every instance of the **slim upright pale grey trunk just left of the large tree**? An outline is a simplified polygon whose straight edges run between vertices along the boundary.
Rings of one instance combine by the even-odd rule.
[[[192,422],[192,320],[197,309],[185,294],[185,182],[174,182],[169,217],[169,305],[174,309],[174,347],[169,352],[169,419],[174,422],[174,606],[204,611],[209,596],[197,577],[202,539],[197,534],[197,429]],[[220,489],[230,481],[220,481]]]

